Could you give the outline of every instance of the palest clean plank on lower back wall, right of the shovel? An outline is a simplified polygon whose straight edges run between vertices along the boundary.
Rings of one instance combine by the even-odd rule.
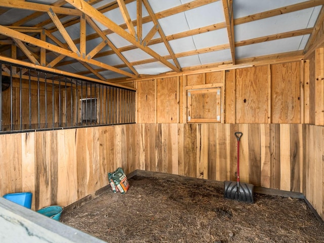
[[[280,190],[291,188],[290,125],[280,124]]]

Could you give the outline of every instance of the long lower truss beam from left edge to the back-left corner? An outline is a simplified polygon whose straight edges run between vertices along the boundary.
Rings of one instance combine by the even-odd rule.
[[[36,39],[36,38],[34,38],[32,36],[17,32],[15,30],[12,30],[10,28],[7,28],[7,27],[1,26],[1,25],[0,25],[0,33],[4,34],[6,36],[12,37],[12,38],[19,39],[22,42],[30,43],[32,45],[35,45],[35,46],[38,46],[38,47],[41,47],[41,48],[46,48],[47,50],[50,50],[52,52],[63,54],[65,56],[74,58],[74,59],[79,60],[79,61],[86,61],[89,64],[93,64],[93,65],[98,66],[98,67],[106,68],[108,70],[111,70],[111,71],[114,71],[114,72],[129,76],[129,77],[136,78],[136,75],[134,75],[132,73],[120,70],[118,68],[107,65],[105,63],[101,63],[101,62],[93,60],[93,59],[86,60],[85,58],[77,55],[74,52],[71,52],[70,50],[66,50],[64,48],[57,47],[57,46],[55,46],[53,44],[50,44],[50,43],[47,43],[47,42],[43,42],[43,41],[41,41],[39,39]]]

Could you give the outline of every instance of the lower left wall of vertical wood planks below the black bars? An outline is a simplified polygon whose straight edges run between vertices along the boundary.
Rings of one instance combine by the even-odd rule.
[[[135,125],[0,135],[0,195],[31,191],[32,209],[67,206],[136,170]]]

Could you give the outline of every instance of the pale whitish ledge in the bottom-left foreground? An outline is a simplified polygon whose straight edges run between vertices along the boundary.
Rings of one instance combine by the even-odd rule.
[[[0,242],[105,242],[0,197]]]

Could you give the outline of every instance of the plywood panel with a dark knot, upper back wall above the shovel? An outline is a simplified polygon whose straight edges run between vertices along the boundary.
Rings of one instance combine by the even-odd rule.
[[[235,70],[236,123],[268,123],[268,66]]]

